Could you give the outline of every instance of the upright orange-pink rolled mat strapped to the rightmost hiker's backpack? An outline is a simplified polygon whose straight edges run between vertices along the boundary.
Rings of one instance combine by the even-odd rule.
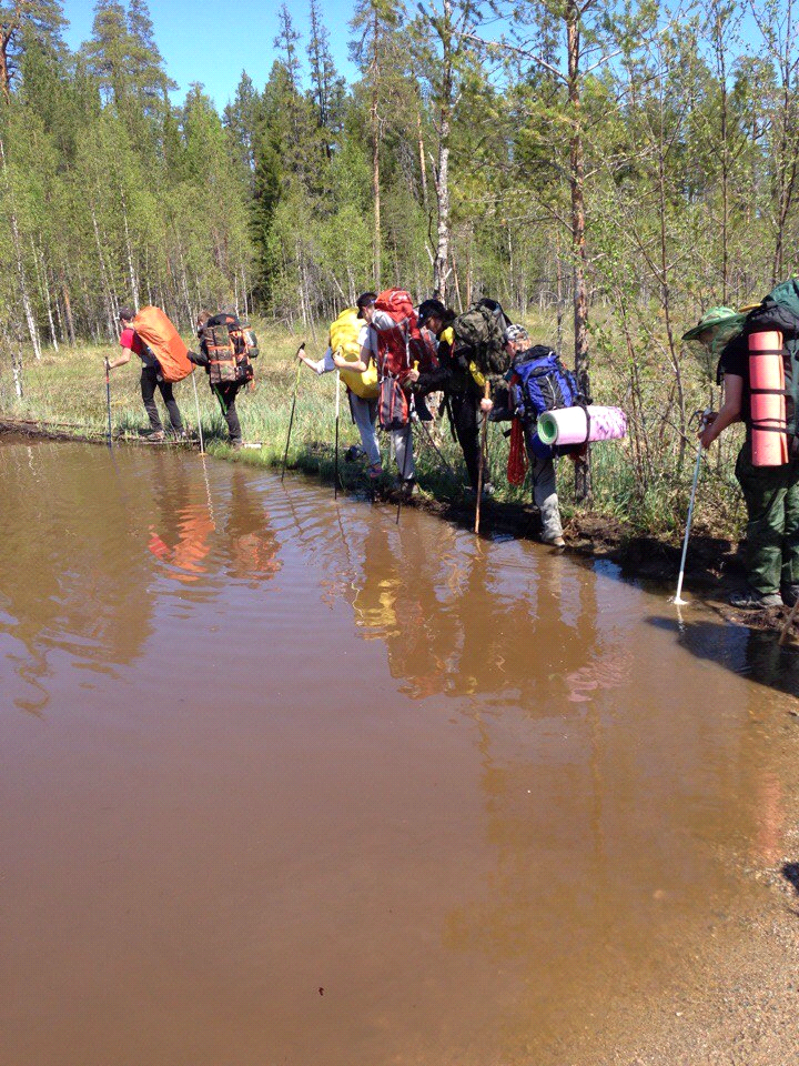
[[[752,465],[788,462],[782,334],[776,330],[749,334]]]

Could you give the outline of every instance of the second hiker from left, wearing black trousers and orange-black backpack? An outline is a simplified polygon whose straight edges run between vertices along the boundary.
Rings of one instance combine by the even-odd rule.
[[[254,336],[250,330],[241,326],[234,314],[226,312],[211,315],[208,311],[201,311],[196,332],[200,351],[189,352],[189,359],[195,365],[205,368],[209,386],[227,423],[227,442],[231,447],[240,449],[243,441],[235,401],[242,385],[253,378],[250,359],[257,355]],[[252,343],[246,340],[247,333],[252,336]]]

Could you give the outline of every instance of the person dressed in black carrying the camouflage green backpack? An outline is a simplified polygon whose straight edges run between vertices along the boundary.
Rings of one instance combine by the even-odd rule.
[[[469,350],[457,346],[453,323],[455,312],[439,300],[424,300],[419,304],[419,328],[433,334],[437,344],[438,366],[419,375],[415,390],[426,394],[443,389],[452,428],[461,445],[469,482],[477,491],[482,462],[479,428],[488,416],[493,401],[485,396],[486,376],[469,358]],[[494,489],[484,472],[483,492],[492,495]]]

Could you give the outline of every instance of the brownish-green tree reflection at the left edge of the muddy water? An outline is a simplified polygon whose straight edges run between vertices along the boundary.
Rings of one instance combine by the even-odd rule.
[[[135,523],[150,485],[131,481],[123,510],[107,452],[43,443],[2,445],[0,476],[2,630],[24,646],[13,658],[18,676],[39,688],[18,703],[40,711],[50,702],[51,652],[107,671],[130,662],[148,635],[146,561],[120,549],[142,535]]]

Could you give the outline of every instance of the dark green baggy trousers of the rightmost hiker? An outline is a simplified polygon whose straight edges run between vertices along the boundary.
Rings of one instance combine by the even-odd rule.
[[[754,466],[751,441],[738,453],[736,477],[747,507],[747,581],[766,595],[799,583],[799,461]]]

